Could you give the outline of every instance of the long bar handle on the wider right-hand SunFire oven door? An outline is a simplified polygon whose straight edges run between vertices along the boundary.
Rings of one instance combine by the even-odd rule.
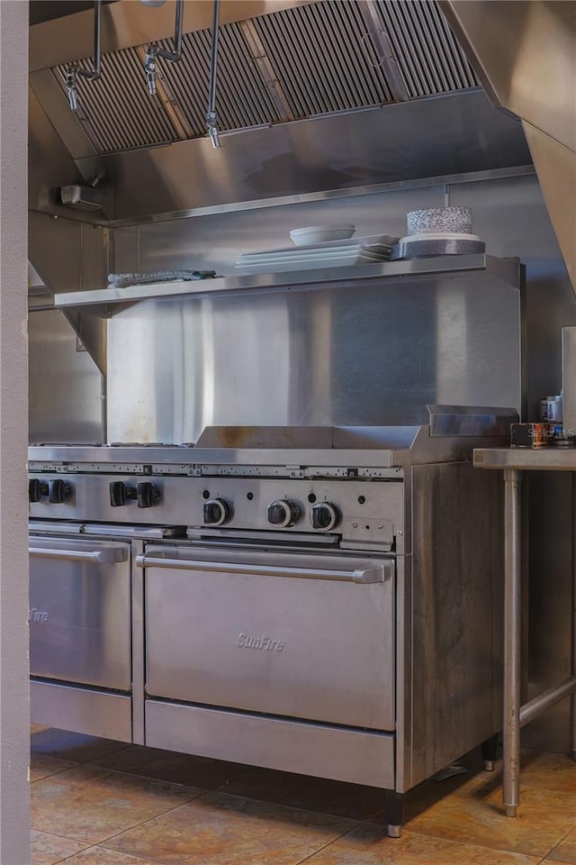
[[[383,565],[354,570],[325,570],[321,568],[290,568],[279,565],[249,565],[229,561],[195,561],[191,559],[164,559],[161,556],[139,555],[139,568],[166,568],[178,570],[208,570],[226,574],[264,574],[270,577],[301,577],[304,579],[333,579],[355,583],[383,583]]]

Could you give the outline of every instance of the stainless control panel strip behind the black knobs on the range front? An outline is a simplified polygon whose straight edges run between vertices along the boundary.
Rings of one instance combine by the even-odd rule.
[[[113,467],[115,469],[117,467]],[[54,476],[32,473],[31,477],[49,480]],[[142,478],[130,475],[65,474],[58,472],[58,478],[66,481],[72,489],[72,496],[61,505],[50,504],[48,498],[30,505],[31,517],[40,520],[85,520],[103,524],[102,531],[113,535],[112,523],[128,523],[146,526],[186,525],[195,526],[201,533],[218,537],[220,530],[204,525],[204,494],[213,498],[223,498],[229,503],[231,515],[226,528],[243,531],[269,532],[266,507],[276,499],[289,498],[300,510],[300,517],[291,527],[283,529],[286,541],[296,539],[302,533],[319,537],[311,527],[310,514],[315,500],[328,501],[336,505],[343,519],[338,523],[335,533],[342,538],[343,545],[362,545],[365,549],[389,551],[392,545],[398,546],[401,539],[398,533],[404,524],[403,488],[400,482],[358,481],[296,478],[178,478],[154,477],[146,475],[160,493],[160,503],[154,507],[139,508],[136,501],[130,500],[123,507],[110,504],[109,484],[121,480],[136,484]],[[400,478],[399,478],[400,479]],[[249,497],[248,497],[248,494]],[[88,531],[92,531],[88,527]],[[137,530],[138,533],[138,530]],[[144,536],[146,531],[140,533]],[[218,560],[218,559],[217,559]]]

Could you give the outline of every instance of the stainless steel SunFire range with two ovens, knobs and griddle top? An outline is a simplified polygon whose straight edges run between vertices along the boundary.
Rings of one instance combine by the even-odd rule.
[[[31,715],[386,791],[500,730],[500,482],[516,416],[211,427],[31,447]],[[488,754],[488,751],[486,751]]]

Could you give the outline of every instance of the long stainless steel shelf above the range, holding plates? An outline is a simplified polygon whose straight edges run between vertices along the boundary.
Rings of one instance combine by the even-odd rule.
[[[174,281],[150,283],[125,288],[102,288],[94,291],[71,291],[54,296],[57,307],[85,305],[131,304],[159,297],[195,296],[242,292],[247,290],[273,290],[275,288],[313,288],[326,283],[346,284],[359,279],[399,279],[428,277],[438,274],[456,276],[485,271],[503,282],[519,286],[519,260],[499,259],[491,255],[444,255],[432,259],[383,261],[355,268],[325,268],[292,270],[285,273],[251,274],[241,277],[199,279],[192,282]]]

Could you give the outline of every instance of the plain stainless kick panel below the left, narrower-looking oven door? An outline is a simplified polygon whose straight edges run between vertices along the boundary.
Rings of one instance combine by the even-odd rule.
[[[126,695],[32,680],[30,716],[34,724],[58,730],[132,741],[131,700]]]

